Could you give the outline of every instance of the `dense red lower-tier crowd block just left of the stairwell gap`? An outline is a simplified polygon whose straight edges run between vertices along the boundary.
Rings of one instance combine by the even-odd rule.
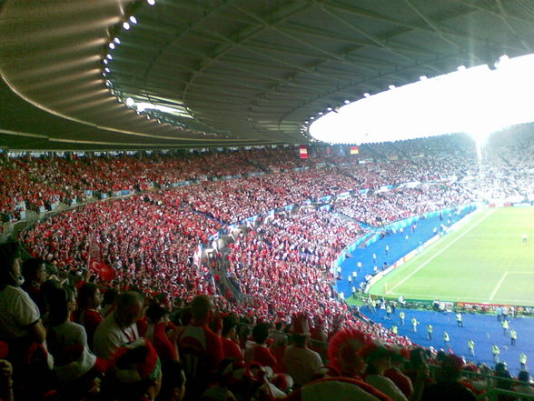
[[[213,280],[205,268],[193,268],[192,256],[220,226],[191,209],[165,206],[161,196],[145,195],[65,212],[36,223],[22,240],[33,256],[78,275],[87,269],[94,242],[119,287],[187,298],[213,294]]]

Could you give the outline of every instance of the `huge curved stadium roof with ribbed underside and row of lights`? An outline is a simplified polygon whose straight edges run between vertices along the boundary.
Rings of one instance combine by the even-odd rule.
[[[345,100],[533,53],[529,0],[154,1],[0,0],[0,147],[306,143]]]

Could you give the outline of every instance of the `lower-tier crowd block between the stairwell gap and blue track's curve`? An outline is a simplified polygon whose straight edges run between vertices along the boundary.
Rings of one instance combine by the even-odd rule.
[[[258,313],[333,318],[345,309],[332,294],[330,266],[362,234],[357,224],[325,211],[277,214],[229,245],[226,271]]]

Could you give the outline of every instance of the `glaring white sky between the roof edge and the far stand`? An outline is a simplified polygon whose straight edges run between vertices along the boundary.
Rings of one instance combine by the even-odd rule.
[[[470,133],[482,140],[510,125],[534,122],[534,55],[501,57],[488,65],[370,95],[328,113],[310,126],[331,144],[387,142]]]

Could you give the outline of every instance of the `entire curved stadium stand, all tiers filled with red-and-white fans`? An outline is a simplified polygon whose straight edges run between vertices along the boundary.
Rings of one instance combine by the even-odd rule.
[[[388,328],[391,315],[400,318],[388,311],[391,304],[378,312],[371,304],[350,309],[340,296],[351,294],[346,277],[331,266],[347,246],[378,233],[382,240],[369,244],[368,260],[351,279],[362,283],[377,273],[375,264],[391,263],[435,234],[440,218],[450,226],[470,213],[481,193],[499,198],[532,188],[521,165],[531,163],[531,136],[490,142],[482,165],[462,135],[361,146],[357,159],[317,150],[302,161],[294,149],[277,148],[5,160],[2,210],[12,221],[33,206],[43,212],[19,238],[35,266],[47,266],[48,277],[26,283],[28,295],[20,287],[23,250],[0,246],[6,267],[0,397],[198,399],[193,383],[202,382],[211,385],[205,400],[234,399],[232,393],[308,399],[310,392],[426,400],[446,391],[461,399],[515,399],[519,392],[528,399],[528,374],[514,381],[506,366],[466,365],[459,356],[421,347],[424,339],[404,327]],[[479,169],[485,178],[474,182]],[[121,191],[127,196],[95,199]],[[58,204],[74,207],[44,213]],[[410,241],[381,231],[443,209],[451,211],[410,226]],[[392,246],[397,243],[403,246]],[[202,258],[201,246],[209,248]],[[387,257],[383,246],[391,246]],[[98,292],[87,289],[92,283]],[[116,307],[100,307],[100,292],[120,294]],[[410,312],[407,327],[412,317],[427,323]],[[96,328],[98,335],[94,320],[104,327]],[[274,367],[245,364],[239,352],[224,359],[222,335],[232,349],[258,348],[256,355],[274,358]],[[113,356],[99,357],[101,342],[117,341]],[[284,354],[302,366],[320,357],[324,366],[313,373],[316,380],[295,382]],[[199,376],[194,366],[209,368]],[[25,380],[29,375],[34,382]]]

